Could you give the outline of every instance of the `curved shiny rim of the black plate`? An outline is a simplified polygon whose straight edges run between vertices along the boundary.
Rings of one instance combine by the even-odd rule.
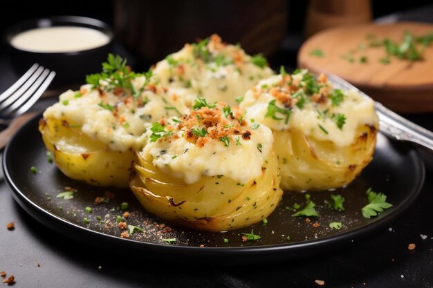
[[[400,217],[405,211],[410,207],[412,202],[416,200],[419,193],[421,193],[421,189],[423,188],[423,184],[425,181],[425,166],[421,157],[419,156],[416,149],[412,148],[410,153],[410,157],[413,158],[415,169],[418,170],[419,173],[419,181],[416,182],[417,185],[412,188],[412,191],[407,193],[404,200],[402,200],[398,205],[394,206],[393,209],[383,215],[380,219],[371,222],[370,224],[365,225],[364,227],[359,227],[357,229],[353,229],[351,231],[342,232],[340,234],[334,236],[326,236],[323,238],[318,238],[314,240],[306,240],[305,242],[297,242],[297,243],[284,243],[284,244],[270,244],[256,247],[190,247],[190,246],[179,246],[179,245],[169,245],[169,244],[158,244],[151,242],[140,242],[137,240],[118,238],[116,236],[111,236],[109,234],[105,234],[99,231],[94,231],[91,229],[87,229],[86,227],[82,227],[75,223],[69,222],[68,220],[61,218],[54,213],[46,211],[42,207],[39,207],[35,202],[30,200],[24,193],[22,193],[18,186],[13,181],[9,169],[8,163],[12,160],[9,160],[10,151],[13,149],[13,145],[17,142],[17,139],[20,137],[21,133],[24,133],[28,129],[28,126],[35,125],[38,119],[42,117],[42,113],[39,115],[35,115],[35,117],[31,118],[21,126],[19,131],[15,133],[15,135],[11,138],[10,142],[6,146],[3,151],[3,173],[6,182],[11,188],[13,198],[18,202],[21,208],[24,209],[27,213],[29,213],[33,218],[44,224],[46,227],[50,229],[54,229],[58,233],[63,234],[68,238],[75,238],[75,240],[80,240],[80,237],[75,235],[75,232],[79,232],[80,236],[88,236],[90,238],[99,238],[107,240],[107,242],[111,242],[111,244],[119,244],[120,246],[126,246],[133,249],[138,249],[140,251],[155,251],[161,253],[172,253],[172,254],[183,254],[187,253],[192,256],[245,256],[245,255],[260,255],[260,256],[268,256],[267,258],[271,258],[274,256],[278,256],[279,258],[287,258],[286,256],[289,253],[297,253],[298,255],[308,251],[305,253],[305,256],[310,254],[313,250],[317,248],[329,247],[331,244],[337,243],[349,243],[354,240],[361,238],[362,236],[367,236],[370,233],[377,231],[378,229],[385,227],[387,224],[393,222],[397,218]],[[66,225],[66,230],[61,229],[64,225]],[[60,229],[57,229],[60,228]],[[89,241],[88,241],[89,242]],[[91,244],[91,243],[89,243]],[[334,245],[338,246],[338,245]],[[191,254],[190,254],[191,253]]]

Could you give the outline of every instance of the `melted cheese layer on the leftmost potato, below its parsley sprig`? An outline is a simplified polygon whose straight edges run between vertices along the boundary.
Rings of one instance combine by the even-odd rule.
[[[145,77],[133,80],[136,90],[144,84]],[[160,85],[147,85],[136,98],[122,89],[103,91],[84,85],[80,91],[68,90],[60,95],[59,102],[46,109],[44,118],[66,119],[70,126],[81,127],[84,134],[113,151],[138,151],[147,140],[144,133],[149,123],[185,111],[183,100]]]

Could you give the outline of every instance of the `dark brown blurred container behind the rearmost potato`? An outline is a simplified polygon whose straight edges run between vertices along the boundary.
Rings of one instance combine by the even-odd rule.
[[[273,55],[286,36],[287,0],[115,0],[114,29],[142,64],[213,33],[250,55]]]

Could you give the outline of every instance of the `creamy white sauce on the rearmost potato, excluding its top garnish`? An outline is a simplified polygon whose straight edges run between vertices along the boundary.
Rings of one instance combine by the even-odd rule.
[[[236,46],[228,45],[222,51],[215,52],[215,55],[225,55],[227,59],[232,59],[237,52],[243,59],[238,66],[218,66],[215,62],[200,64],[200,61],[194,58],[192,46],[187,45],[170,55],[172,59],[183,64],[181,77],[167,59],[156,64],[154,74],[163,85],[174,88],[189,105],[192,105],[199,95],[208,102],[223,101],[229,105],[237,105],[236,97],[242,97],[260,79],[273,75],[273,70],[269,67],[260,68],[252,64],[251,57]]]

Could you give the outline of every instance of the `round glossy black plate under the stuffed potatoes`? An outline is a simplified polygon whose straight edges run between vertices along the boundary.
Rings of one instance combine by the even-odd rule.
[[[351,243],[360,236],[369,236],[398,218],[418,195],[425,176],[423,163],[414,149],[378,134],[374,161],[362,175],[344,189],[310,193],[317,204],[319,218],[311,218],[308,222],[304,218],[292,217],[293,211],[286,207],[292,207],[295,202],[304,204],[306,200],[302,193],[286,192],[281,204],[268,217],[266,226],[257,223],[227,233],[192,231],[170,226],[149,215],[128,189],[100,188],[68,179],[55,164],[47,161],[46,148],[37,129],[40,117],[31,119],[21,128],[3,156],[6,181],[21,207],[69,238],[111,251],[156,256],[160,260],[167,260],[166,256],[169,256],[169,261],[176,263],[254,263],[295,259],[341,249],[342,244]],[[32,173],[31,166],[36,166],[39,173]],[[74,198],[56,198],[66,186],[77,190]],[[385,193],[387,201],[394,206],[377,217],[366,219],[362,217],[361,208],[367,204],[365,191],[369,187]],[[106,191],[116,197],[108,203],[95,204],[95,198],[104,197]],[[331,211],[326,207],[324,200],[330,200],[331,193],[340,193],[346,198],[346,211]],[[142,227],[144,233],[134,233],[130,239],[120,238],[116,217],[123,213],[120,209],[122,202],[129,204],[131,216],[127,223]],[[85,207],[91,207],[93,212],[86,213]],[[98,220],[98,216],[104,223]],[[88,218],[89,224],[84,224],[84,218]],[[342,222],[343,227],[331,229],[330,222]],[[252,229],[261,239],[243,242],[242,233],[250,233]],[[290,236],[290,242],[287,236]],[[162,240],[169,238],[176,238],[176,242]],[[227,238],[228,243],[223,242],[223,238]]]

